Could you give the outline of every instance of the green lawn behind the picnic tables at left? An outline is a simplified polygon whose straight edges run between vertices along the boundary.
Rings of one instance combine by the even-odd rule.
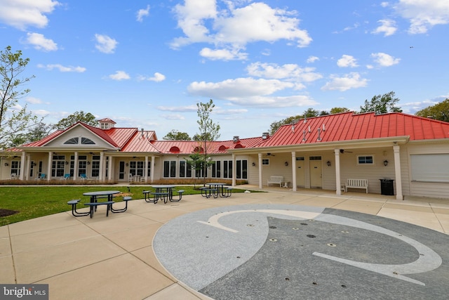
[[[198,188],[199,185],[196,185],[196,188],[193,186],[182,186],[178,187],[177,190],[185,190],[183,195],[194,195],[201,193]],[[72,207],[67,205],[69,200],[80,199],[79,207],[82,207],[83,203],[90,201],[89,197],[83,196],[83,193],[96,190],[119,190],[121,195],[130,195],[133,199],[142,199],[142,191],[152,190],[152,188],[136,185],[102,187],[93,185],[2,186],[0,187],[0,211],[18,212],[9,216],[0,215],[0,226],[69,211],[72,209]],[[243,190],[232,190],[232,193],[241,192]],[[116,201],[121,201],[121,197],[117,197]]]

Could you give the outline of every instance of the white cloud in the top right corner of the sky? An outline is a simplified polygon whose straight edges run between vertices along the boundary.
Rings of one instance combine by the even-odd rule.
[[[426,33],[435,25],[449,24],[448,0],[399,0],[394,8],[399,15],[410,20],[410,34]]]

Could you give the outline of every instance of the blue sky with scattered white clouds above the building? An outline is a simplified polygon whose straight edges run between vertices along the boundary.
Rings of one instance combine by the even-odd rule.
[[[56,123],[260,136],[309,107],[359,110],[395,91],[403,112],[449,98],[447,0],[0,0],[3,45],[30,58],[20,99]]]

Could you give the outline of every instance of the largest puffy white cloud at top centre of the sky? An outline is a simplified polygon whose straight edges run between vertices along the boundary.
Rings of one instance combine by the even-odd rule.
[[[236,54],[241,54],[240,50],[252,42],[273,43],[286,39],[295,41],[298,47],[308,46],[311,42],[307,31],[298,27],[300,20],[293,17],[294,11],[271,8],[258,2],[241,8],[234,6],[246,4],[246,1],[225,3],[226,9],[218,9],[215,0],[186,0],[184,5],[175,6],[177,25],[185,36],[174,39],[171,46],[210,43],[218,48],[203,48],[203,57],[231,60],[246,59],[246,53],[243,56]]]

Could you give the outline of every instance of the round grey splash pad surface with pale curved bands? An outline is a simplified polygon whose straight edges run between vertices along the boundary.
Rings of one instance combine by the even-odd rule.
[[[162,226],[161,264],[213,299],[448,299],[449,236],[320,207],[204,209]]]

